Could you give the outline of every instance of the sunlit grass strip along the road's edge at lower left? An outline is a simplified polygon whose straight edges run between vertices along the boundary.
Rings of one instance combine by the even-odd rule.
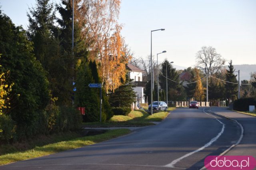
[[[64,150],[70,150],[75,148],[80,148],[82,146],[87,146],[102,142],[105,140],[110,140],[118,136],[129,134],[131,131],[129,129],[114,129],[108,130],[104,134],[98,134],[95,136],[84,136],[80,138],[75,138],[72,140],[57,142],[53,144],[47,144],[44,146],[36,146],[33,149],[24,152],[15,152],[10,154],[4,154],[0,156],[0,165],[9,164],[11,162],[37,158],[40,156],[46,156],[49,154],[54,154],[57,152],[62,152]]]

